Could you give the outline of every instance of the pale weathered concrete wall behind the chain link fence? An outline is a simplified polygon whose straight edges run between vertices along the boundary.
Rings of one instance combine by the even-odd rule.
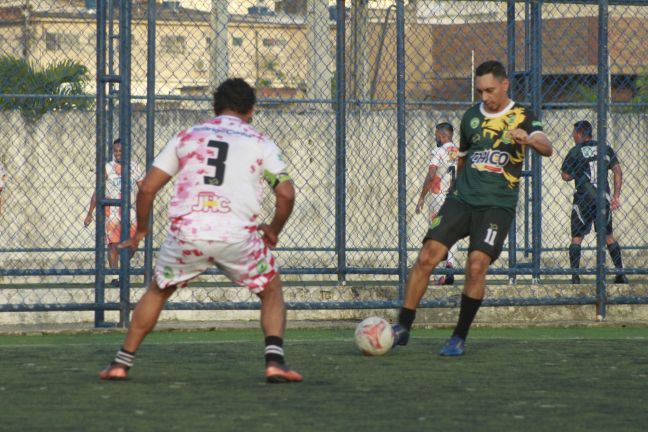
[[[178,130],[205,119],[208,112],[160,112],[156,117],[156,152]],[[432,149],[431,125],[450,120],[459,112],[407,114],[407,215],[411,248],[418,248],[426,221],[414,214],[420,186]],[[560,165],[572,146],[571,125],[577,119],[595,119],[591,111],[545,113],[547,134],[555,155],[543,159],[543,246],[564,247],[569,242],[569,213],[573,185],[560,179]],[[625,245],[645,246],[648,195],[648,117],[616,114],[610,141],[624,167],[622,208],[615,213],[615,233]],[[335,122],[330,113],[261,111],[255,125],[284,150],[299,191],[297,205],[283,234],[286,247],[333,248],[335,226]],[[9,171],[0,215],[0,248],[93,248],[94,225],[83,227],[95,181],[95,122],[93,113],[52,113],[26,126],[17,113],[0,114],[0,161]],[[144,160],[145,116],[133,116],[133,158]],[[397,246],[397,138],[392,111],[351,112],[347,122],[347,242],[357,248]],[[156,244],[164,238],[166,202],[170,187],[156,203]],[[523,236],[523,200],[518,206],[519,235]],[[266,205],[267,215],[272,200]],[[594,236],[590,236],[593,244]],[[334,254],[287,256],[285,265],[327,266]],[[0,253],[1,268],[93,267],[91,252]],[[396,253],[350,253],[351,265],[396,264]],[[566,267],[566,257],[546,265]],[[503,264],[503,261],[501,261]]]

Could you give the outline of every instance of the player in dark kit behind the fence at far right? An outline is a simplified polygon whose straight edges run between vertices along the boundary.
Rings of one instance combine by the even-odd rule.
[[[571,212],[571,236],[572,242],[569,246],[569,264],[572,269],[580,267],[581,243],[583,238],[594,228],[598,231],[596,223],[596,167],[597,167],[597,143],[592,139],[592,124],[587,120],[581,120],[574,124],[572,138],[576,144],[563,161],[561,176],[565,181],[574,180],[576,190]],[[614,194],[610,196],[610,185],[605,181],[605,244],[612,258],[614,266],[622,270],[621,246],[614,238],[612,230],[612,212],[619,208],[621,199],[621,186],[623,185],[623,172],[616,152],[606,145],[605,165],[607,170],[614,174]],[[628,283],[625,274],[619,273],[614,278],[615,283]],[[579,284],[580,276],[572,275],[572,283]],[[598,305],[597,305],[597,317]]]

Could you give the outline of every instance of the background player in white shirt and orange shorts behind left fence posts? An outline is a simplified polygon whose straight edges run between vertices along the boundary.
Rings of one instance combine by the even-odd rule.
[[[106,163],[105,176],[106,176],[106,198],[107,199],[121,199],[121,142],[117,138],[113,142],[113,160]],[[131,164],[131,202],[135,203],[135,191],[137,187],[142,185],[142,180],[144,179],[144,167],[139,163]],[[92,216],[94,215],[94,210],[97,207],[97,193],[92,194],[90,198],[90,206],[88,207],[88,213],[86,214],[85,220],[83,221],[84,226],[90,225],[92,222]],[[108,249],[108,266],[111,269],[117,269],[119,267],[119,250],[117,245],[121,239],[121,207],[108,206],[105,208],[106,214],[106,244]],[[135,234],[135,210],[131,209],[130,220],[130,237]],[[114,278],[110,281],[110,284],[114,287],[119,286],[119,279]]]

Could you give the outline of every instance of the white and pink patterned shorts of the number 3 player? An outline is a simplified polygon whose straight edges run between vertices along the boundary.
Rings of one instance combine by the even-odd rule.
[[[155,280],[162,289],[185,287],[212,266],[253,293],[263,291],[277,274],[270,248],[256,231],[242,241],[228,243],[187,240],[169,234],[158,254]]]

